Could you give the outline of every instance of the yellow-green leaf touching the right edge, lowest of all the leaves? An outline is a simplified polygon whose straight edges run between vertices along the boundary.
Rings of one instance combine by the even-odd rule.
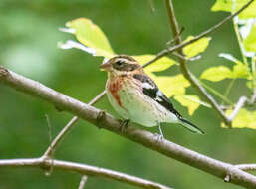
[[[229,116],[232,112],[233,110],[227,110],[227,116]],[[224,125],[225,124],[222,123],[222,126]],[[232,127],[256,129],[256,111],[248,111],[245,108],[241,108],[232,121]]]

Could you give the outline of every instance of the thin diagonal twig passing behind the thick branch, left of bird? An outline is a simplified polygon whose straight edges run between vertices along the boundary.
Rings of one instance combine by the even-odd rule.
[[[101,99],[106,94],[106,91],[103,91],[101,94],[94,97],[88,104],[93,105],[96,103],[99,99]],[[64,136],[67,135],[67,133],[73,128],[73,125],[78,121],[79,117],[74,116],[68,124],[60,131],[60,133],[55,137],[53,142],[50,144],[50,146],[47,148],[46,152],[44,153],[44,157],[51,157],[56,150],[57,145],[63,140]]]

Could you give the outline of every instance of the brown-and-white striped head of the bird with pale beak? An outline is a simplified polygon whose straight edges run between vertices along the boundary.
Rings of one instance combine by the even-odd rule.
[[[107,62],[104,62],[100,68],[113,76],[127,75],[130,72],[142,69],[141,65],[128,55],[113,57]]]

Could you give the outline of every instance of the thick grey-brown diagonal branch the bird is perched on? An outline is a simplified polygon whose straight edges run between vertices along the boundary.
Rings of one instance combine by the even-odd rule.
[[[235,166],[224,163],[196,153],[168,140],[158,140],[152,133],[129,126],[124,132],[120,132],[121,121],[115,119],[108,113],[101,113],[100,109],[85,104],[77,99],[62,95],[36,81],[25,78],[12,71],[0,67],[0,82],[26,94],[34,95],[44,99],[58,109],[70,112],[93,125],[122,135],[147,148],[164,154],[177,161],[205,171],[224,179],[231,175],[230,182],[247,188],[256,187],[256,177],[243,172]],[[99,116],[101,114],[101,116]]]

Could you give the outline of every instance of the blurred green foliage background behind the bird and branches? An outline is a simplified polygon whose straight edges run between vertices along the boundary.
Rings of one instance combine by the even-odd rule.
[[[214,2],[174,1],[179,24],[185,27],[183,37],[196,35],[227,16],[227,13],[210,11]],[[80,50],[58,49],[58,41],[74,39],[72,35],[58,31],[58,28],[69,20],[87,17],[102,28],[117,53],[156,54],[165,48],[171,33],[164,1],[154,1],[154,6],[156,11],[151,13],[147,0],[1,0],[0,65],[65,95],[88,102],[105,86],[106,73],[99,71],[102,59]],[[240,58],[231,23],[211,36],[212,41],[202,59],[189,63],[197,76],[209,66],[223,64],[225,60],[218,58],[221,52]],[[171,67],[169,74],[176,73],[179,73],[178,68]],[[208,84],[223,93],[228,81]],[[189,91],[196,93],[193,89]],[[235,83],[229,98],[236,101],[241,93],[248,95],[242,80]],[[173,103],[181,114],[189,117],[185,108],[175,101]],[[118,116],[106,97],[96,106]],[[51,121],[53,136],[72,118],[71,114],[58,112],[45,101],[0,85],[0,158],[41,156],[49,145],[46,114]],[[200,107],[189,119],[207,134],[199,136],[170,125],[163,128],[165,137],[226,162],[256,162],[255,130],[220,128],[218,115],[206,107]],[[148,130],[158,131],[157,128]],[[114,169],[174,188],[239,188],[82,120],[59,146],[55,157]],[[54,171],[51,176],[45,176],[42,170],[34,168],[1,168],[0,188],[70,189],[78,187],[80,178],[80,175],[71,172]],[[86,188],[134,187],[90,177]]]

